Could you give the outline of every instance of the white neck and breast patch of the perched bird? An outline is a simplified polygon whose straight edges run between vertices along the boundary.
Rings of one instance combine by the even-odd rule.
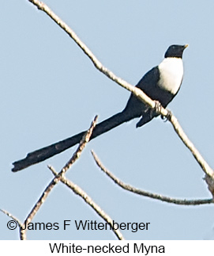
[[[177,94],[183,77],[183,64],[181,58],[165,58],[160,63],[160,81],[158,85],[160,88]]]

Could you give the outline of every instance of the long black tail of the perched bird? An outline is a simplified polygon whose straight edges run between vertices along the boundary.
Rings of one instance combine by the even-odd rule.
[[[96,128],[94,128],[92,132],[91,139],[94,139],[97,136],[103,134],[104,132],[108,132],[112,128],[115,128],[118,125],[127,122],[133,118],[133,113],[130,113],[130,111],[123,110],[122,112],[117,113],[114,116],[108,118],[107,120],[103,120],[103,122],[97,124]],[[79,143],[83,136],[84,132],[80,132],[75,136],[69,137],[68,139],[63,139],[57,143],[51,144],[50,146],[43,147],[36,151],[28,153],[25,159],[13,162],[14,167],[12,171],[16,172],[28,166],[32,166],[35,163],[49,159],[51,158],[51,156],[57,155],[62,151],[65,151],[69,147],[73,147],[74,145]]]

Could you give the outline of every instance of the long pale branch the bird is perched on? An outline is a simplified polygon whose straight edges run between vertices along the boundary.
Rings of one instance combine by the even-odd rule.
[[[73,30],[70,29],[69,26],[66,25],[66,23],[62,21],[55,13],[53,13],[47,5],[37,0],[28,1],[32,2],[35,6],[37,6],[39,10],[42,10],[43,12],[47,13],[47,15],[51,17],[51,19],[54,22],[56,22],[77,43],[77,45],[88,56],[88,58],[92,60],[92,63],[100,72],[102,72],[104,75],[107,75],[108,78],[111,78],[111,80],[117,82],[118,85],[122,86],[126,90],[130,90],[131,93],[133,93],[141,101],[144,101],[145,104],[149,105],[152,109],[155,108],[155,102],[152,101],[152,99],[150,99],[142,90],[130,85],[130,83],[124,81],[122,78],[118,78],[113,72],[109,71],[107,67],[104,67],[103,64],[100,63],[99,60],[96,58],[96,56],[89,50],[89,48],[80,40],[77,34],[73,32]],[[168,117],[169,112],[167,109],[161,107],[160,114],[163,117]],[[173,115],[171,115],[170,120],[171,124],[175,129],[175,132],[177,132],[178,136],[182,139],[182,142],[186,145],[186,147],[190,149],[190,151],[193,154],[193,157],[197,160],[202,170],[204,170],[205,174],[214,179],[214,171],[210,166],[208,166],[208,163],[205,162],[205,159],[202,158],[201,154],[193,146],[193,143],[190,142],[190,139],[188,139],[186,134],[183,132],[181,126],[178,124],[178,120]]]

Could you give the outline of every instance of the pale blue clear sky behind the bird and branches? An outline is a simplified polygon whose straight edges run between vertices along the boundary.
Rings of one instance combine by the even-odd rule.
[[[185,75],[168,106],[212,165],[212,1],[45,1],[116,75],[135,85],[163,59],[171,44],[190,44]],[[4,1],[0,10],[1,197],[0,208],[21,221],[76,147],[16,174],[11,163],[29,151],[65,139],[121,111],[130,93],[96,71],[80,48],[47,15],[28,1]],[[137,120],[88,143],[67,177],[84,189],[117,222],[150,222],[148,231],[123,231],[126,239],[213,239],[213,205],[178,206],[118,188],[92,159],[122,181],[169,197],[210,198],[204,174],[171,124],[160,118],[142,128]],[[18,239],[0,216],[0,239]],[[96,220],[99,216],[58,184],[34,222]],[[115,239],[111,231],[28,231],[28,239]]]

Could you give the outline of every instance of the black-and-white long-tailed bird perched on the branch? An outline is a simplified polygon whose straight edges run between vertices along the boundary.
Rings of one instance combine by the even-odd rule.
[[[163,61],[158,66],[153,67],[148,71],[136,85],[137,88],[141,89],[152,100],[162,105],[163,108],[166,108],[176,94],[178,94],[178,90],[182,85],[182,55],[187,47],[188,44],[171,45],[167,48]],[[134,118],[141,118],[136,125],[137,128],[139,128],[157,116],[159,116],[158,112],[154,111],[154,109],[149,109],[148,105],[145,105],[144,102],[131,94],[122,112],[116,113],[112,117],[109,117],[96,125],[90,140],[104,132],[110,131],[120,124],[133,120]],[[85,131],[80,132],[75,136],[71,136],[47,147],[28,153],[25,159],[13,162],[12,171],[17,172],[18,170],[23,170],[28,166],[49,159],[52,156],[65,151],[69,147],[73,147],[77,143],[80,143],[84,133]]]

